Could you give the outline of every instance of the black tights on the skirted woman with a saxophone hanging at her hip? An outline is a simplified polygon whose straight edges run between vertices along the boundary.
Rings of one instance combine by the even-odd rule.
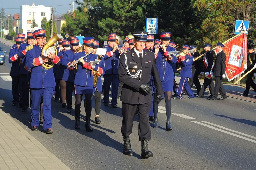
[[[79,118],[80,116],[80,107],[81,107],[81,101],[82,101],[83,94],[81,95],[75,95],[75,118]],[[93,99],[93,94],[85,94],[84,98],[84,108],[85,108],[85,119],[91,119],[91,101]]]

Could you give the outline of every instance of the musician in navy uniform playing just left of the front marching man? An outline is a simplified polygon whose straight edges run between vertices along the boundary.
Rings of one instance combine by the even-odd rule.
[[[109,90],[111,85],[111,107],[117,108],[117,96],[118,96],[118,59],[119,59],[119,52],[116,50],[118,45],[116,44],[116,34],[111,33],[108,36],[108,46],[103,48],[107,49],[105,58],[105,74],[104,77],[104,105],[109,106]]]

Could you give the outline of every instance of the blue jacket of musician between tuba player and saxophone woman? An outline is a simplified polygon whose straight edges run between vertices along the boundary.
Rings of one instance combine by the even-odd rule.
[[[67,68],[68,64],[73,60],[76,60],[76,52],[72,51],[71,49],[63,51],[61,64],[65,67],[64,67],[62,80],[65,80],[67,82],[74,82],[75,69],[69,70]]]

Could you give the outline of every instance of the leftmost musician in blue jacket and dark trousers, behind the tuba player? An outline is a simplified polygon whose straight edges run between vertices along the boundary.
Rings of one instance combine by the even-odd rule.
[[[23,42],[22,38],[16,38],[16,47],[11,48],[9,52],[9,63],[12,63],[10,76],[12,77],[12,96],[13,96],[13,106],[17,106],[20,102],[20,59],[18,58],[18,51],[20,43]]]

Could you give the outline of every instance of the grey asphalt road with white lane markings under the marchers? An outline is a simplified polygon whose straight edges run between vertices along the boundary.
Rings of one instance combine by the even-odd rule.
[[[0,45],[9,53],[10,47]],[[86,132],[85,121],[82,120],[80,130],[75,130],[74,110],[66,113],[66,109],[52,98],[54,133],[44,134],[42,126],[38,132],[31,131],[30,109],[23,113],[18,106],[12,106],[10,68],[8,60],[5,66],[0,66],[1,109],[71,169],[233,170],[256,167],[256,103],[235,98],[213,102],[205,98],[172,100],[173,130],[165,131],[163,100],[159,105],[159,128],[151,128],[149,149],[153,157],[141,160],[138,116],[130,136],[134,156],[123,154],[120,101],[118,108],[105,107],[102,103],[101,124],[94,123],[93,109],[91,126],[94,131]],[[73,106],[74,102],[75,98]],[[81,117],[85,118],[83,107]]]

